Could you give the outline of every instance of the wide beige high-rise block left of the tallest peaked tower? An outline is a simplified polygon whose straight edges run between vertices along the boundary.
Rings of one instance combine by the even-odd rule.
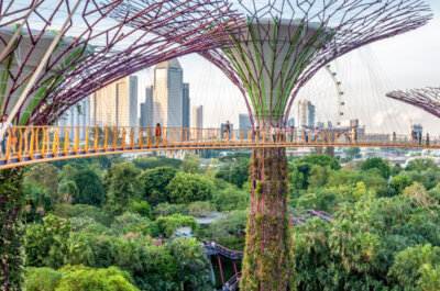
[[[90,123],[138,126],[138,77],[128,76],[90,96]]]

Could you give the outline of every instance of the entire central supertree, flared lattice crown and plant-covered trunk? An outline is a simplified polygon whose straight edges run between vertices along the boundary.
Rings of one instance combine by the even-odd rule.
[[[286,125],[295,97],[331,60],[426,24],[421,0],[238,0],[246,26],[234,46],[200,53],[244,96],[254,126]],[[254,148],[241,290],[294,288],[283,148]]]

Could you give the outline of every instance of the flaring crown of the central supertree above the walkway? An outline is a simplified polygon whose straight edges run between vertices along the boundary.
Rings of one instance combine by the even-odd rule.
[[[248,27],[241,36],[232,36],[237,49],[200,54],[239,87],[255,119],[278,124],[286,124],[301,87],[331,60],[420,27],[432,18],[422,0],[238,0],[235,4],[248,15]]]

